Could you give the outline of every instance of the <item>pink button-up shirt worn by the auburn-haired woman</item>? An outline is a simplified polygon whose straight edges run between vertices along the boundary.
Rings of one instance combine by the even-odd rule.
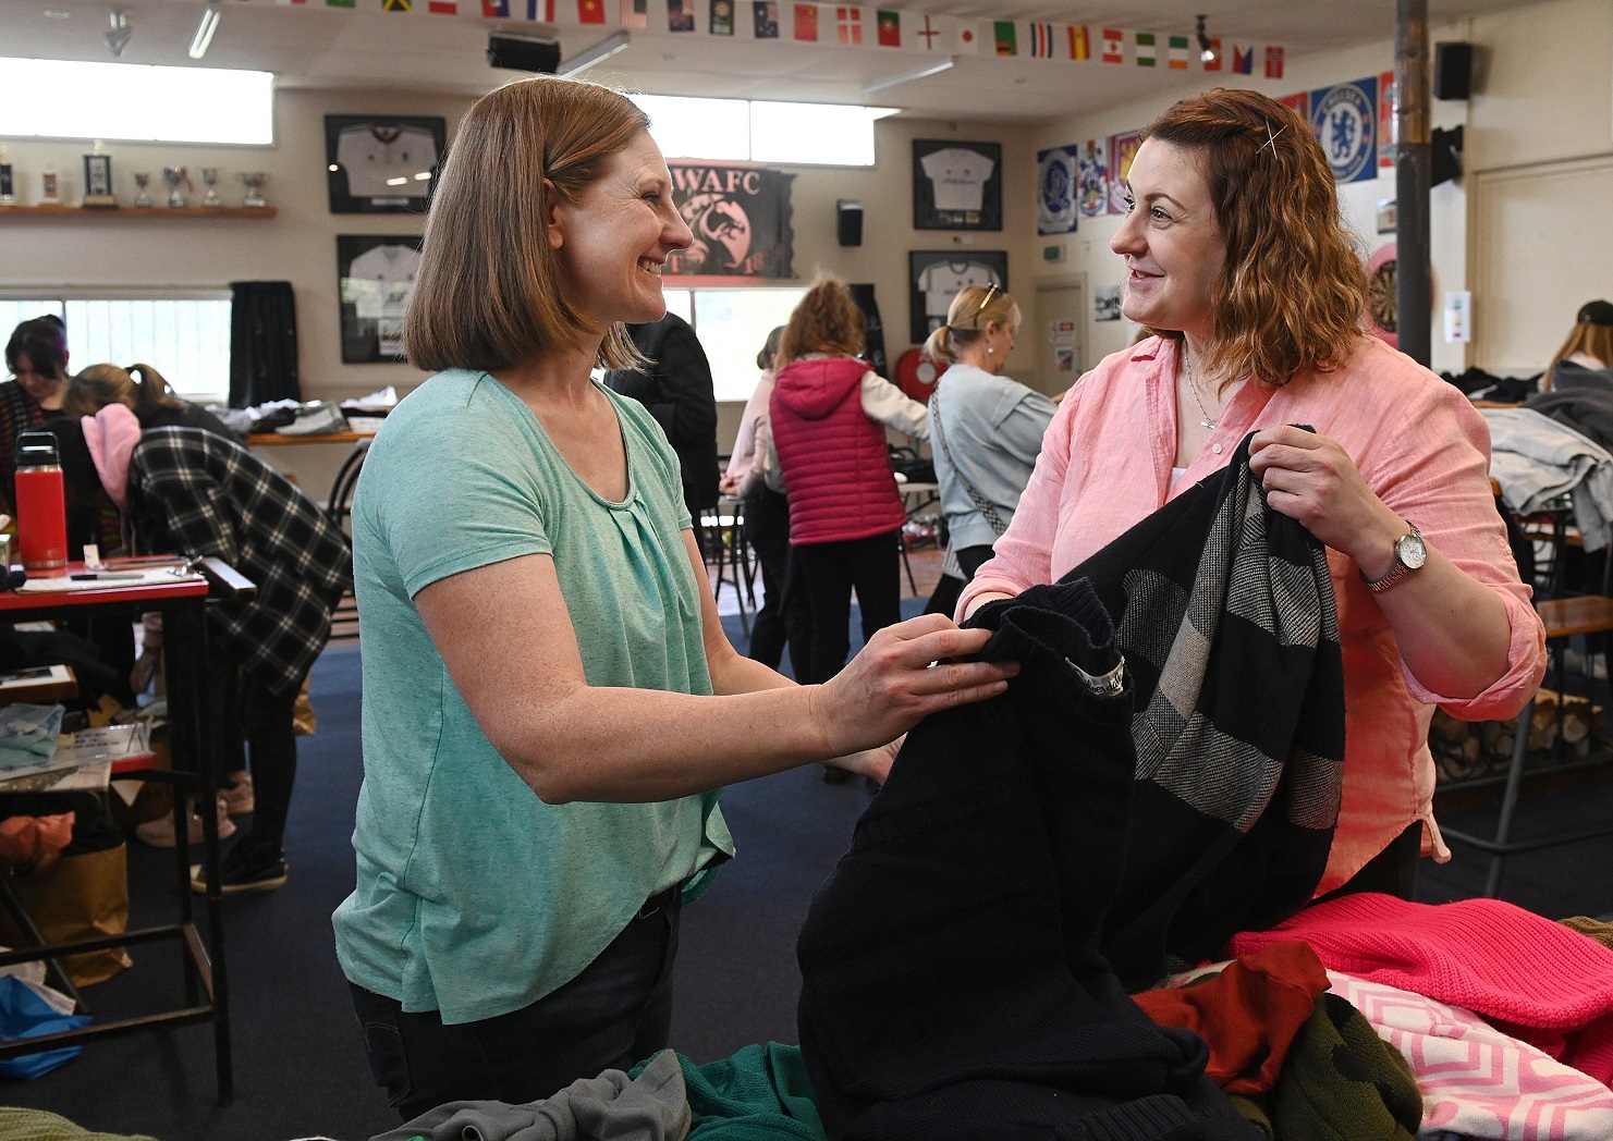
[[[1186,474],[1176,459],[1176,343],[1148,338],[1105,358],[1065,396],[1031,483],[995,556],[965,588],[958,614],[989,591],[1018,595],[1057,582],[1129,527],[1221,469],[1250,432],[1308,424],[1336,440],[1373,492],[1507,604],[1507,672],[1474,698],[1426,688],[1400,659],[1352,559],[1327,551],[1344,643],[1344,803],[1327,870],[1332,891],[1413,820],[1424,853],[1450,859],[1434,822],[1434,706],[1453,717],[1511,717],[1545,674],[1545,630],[1518,579],[1489,487],[1490,438],[1466,396],[1381,340],[1361,337],[1334,372],[1281,388],[1250,382],[1221,414]]]

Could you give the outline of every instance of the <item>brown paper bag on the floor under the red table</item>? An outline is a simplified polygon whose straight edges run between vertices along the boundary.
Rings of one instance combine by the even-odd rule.
[[[84,856],[63,856],[50,870],[23,877],[6,869],[5,877],[47,943],[94,940],[129,930],[127,846],[118,844]],[[11,914],[0,907],[0,943],[29,946]],[[103,983],[134,965],[123,948],[68,956],[63,967],[76,986]]]

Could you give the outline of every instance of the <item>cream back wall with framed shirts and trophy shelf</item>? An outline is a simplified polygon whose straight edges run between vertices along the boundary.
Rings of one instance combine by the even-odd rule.
[[[5,285],[205,285],[239,279],[290,280],[297,295],[297,327],[302,356],[302,388],[306,400],[361,396],[386,385],[406,392],[423,377],[406,364],[342,364],[337,282],[337,234],[418,234],[423,219],[413,214],[332,214],[324,172],[326,114],[440,114],[448,119],[450,143],[468,98],[427,97],[410,92],[282,90],[276,95],[276,145],[177,147],[116,143],[113,174],[124,203],[132,201],[135,171],[158,172],[152,193],[161,200],[163,166],[187,166],[198,182],[192,201],[200,201],[203,166],[226,174],[221,192],[240,201],[240,169],[268,171],[265,187],[273,219],[177,219],[131,218],[132,211],[82,218],[0,216],[0,284]],[[958,245],[1007,250],[1010,284],[1024,279],[1036,253],[1032,184],[1034,151],[1026,127],[958,126],[919,119],[886,119],[876,124],[874,168],[790,168],[795,229],[795,280],[810,282],[818,271],[847,280],[873,282],[886,326],[892,363],[908,346],[908,250]],[[1003,145],[1003,230],[955,235],[915,230],[911,222],[913,139],[987,140]],[[76,201],[81,187],[74,172],[82,142],[13,140],[13,163],[24,200],[35,200],[37,172],[45,163],[63,174],[63,200]],[[836,240],[836,200],[865,205],[863,245],[840,248]],[[161,206],[152,208],[160,214]],[[142,211],[144,213],[144,211]],[[765,335],[766,330],[760,330]],[[87,361],[85,361],[87,364]],[[161,367],[160,361],[153,361]],[[739,424],[739,405],[724,406],[719,440],[726,448]],[[271,459],[298,471],[316,467],[305,482],[324,487],[319,459],[329,448],[298,445],[276,448]],[[339,461],[340,456],[336,456]],[[334,471],[334,467],[332,467]]]

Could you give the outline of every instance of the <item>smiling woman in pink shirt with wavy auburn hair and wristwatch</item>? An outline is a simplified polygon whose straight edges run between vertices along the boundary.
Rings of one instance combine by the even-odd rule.
[[[1431,811],[1434,706],[1510,717],[1545,670],[1484,421],[1361,332],[1361,259],[1326,158],[1265,95],[1218,89],[1160,116],[1110,245],[1123,313],[1153,335],[1061,403],[960,612],[1057,582],[1253,432],[1250,469],[1327,546],[1339,601],[1344,803],[1318,896],[1348,882],[1410,898],[1419,851],[1450,859]]]

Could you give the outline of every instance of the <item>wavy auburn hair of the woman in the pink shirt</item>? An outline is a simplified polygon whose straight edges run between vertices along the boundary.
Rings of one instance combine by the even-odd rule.
[[[1366,271],[1305,119],[1258,92],[1216,87],[1171,106],[1142,137],[1198,161],[1226,240],[1205,366],[1277,387],[1344,364],[1361,337]]]

